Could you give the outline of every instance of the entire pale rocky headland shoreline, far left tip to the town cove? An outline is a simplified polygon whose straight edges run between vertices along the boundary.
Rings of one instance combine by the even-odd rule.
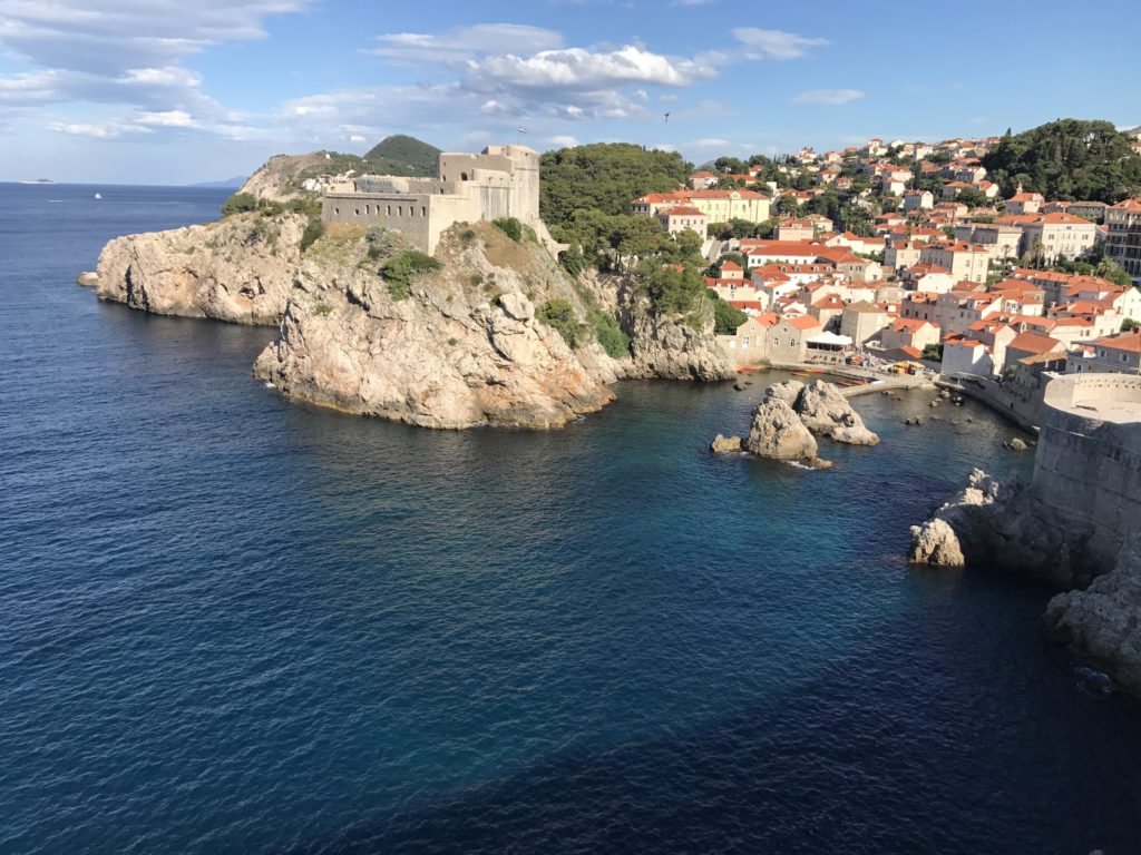
[[[558,427],[612,401],[625,377],[736,375],[712,311],[656,314],[629,279],[575,280],[489,223],[451,229],[438,269],[402,291],[380,272],[406,249],[398,235],[378,253],[363,228],[331,228],[302,252],[306,222],[249,213],[115,238],[76,282],[141,311],[278,325],[256,376],[290,398],[426,427]],[[555,303],[573,316],[561,331],[542,311]],[[590,323],[599,314],[621,323],[629,353],[607,353]]]

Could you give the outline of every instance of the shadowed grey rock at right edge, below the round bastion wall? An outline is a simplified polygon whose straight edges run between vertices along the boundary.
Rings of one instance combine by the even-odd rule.
[[[1052,637],[1141,697],[1141,551],[1136,538],[1111,572],[1084,591],[1059,594],[1046,606]]]

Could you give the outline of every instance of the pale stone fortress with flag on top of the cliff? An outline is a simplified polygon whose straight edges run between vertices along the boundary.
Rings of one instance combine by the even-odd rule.
[[[482,154],[440,153],[435,178],[359,176],[325,186],[323,222],[379,225],[434,253],[458,222],[513,217],[549,246],[539,219],[539,153],[526,146],[488,146]]]

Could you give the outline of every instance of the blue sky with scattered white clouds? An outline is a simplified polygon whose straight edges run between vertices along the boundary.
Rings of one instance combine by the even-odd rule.
[[[391,133],[702,163],[1134,127],[1138,32],[1136,0],[0,0],[0,181],[211,181]]]

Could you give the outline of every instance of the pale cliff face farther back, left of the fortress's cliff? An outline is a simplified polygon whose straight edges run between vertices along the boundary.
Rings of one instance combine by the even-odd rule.
[[[100,299],[156,315],[276,324],[300,261],[306,218],[250,213],[127,235],[99,254]]]

